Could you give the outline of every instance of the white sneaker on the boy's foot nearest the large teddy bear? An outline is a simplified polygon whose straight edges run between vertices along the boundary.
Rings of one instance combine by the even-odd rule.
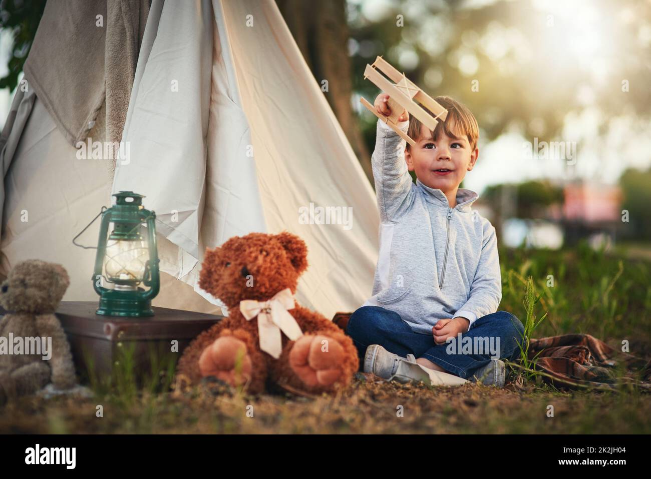
[[[364,372],[370,372],[387,381],[395,379],[400,383],[409,381],[422,381],[432,386],[459,386],[467,383],[465,379],[447,372],[421,366],[416,363],[413,354],[406,358],[389,353],[380,344],[368,346],[364,356]]]

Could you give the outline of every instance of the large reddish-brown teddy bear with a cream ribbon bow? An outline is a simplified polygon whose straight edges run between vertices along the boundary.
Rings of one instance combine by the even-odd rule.
[[[253,394],[266,383],[292,392],[333,392],[359,367],[352,339],[294,300],[307,247],[288,232],[235,236],[206,250],[199,286],[229,316],[197,336],[178,361],[178,377],[217,377]]]

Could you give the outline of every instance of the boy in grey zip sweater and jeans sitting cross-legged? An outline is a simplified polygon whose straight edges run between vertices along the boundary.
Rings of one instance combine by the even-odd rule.
[[[388,98],[375,100],[386,116]],[[448,110],[436,130],[406,111],[398,119],[415,146],[378,120],[372,167],[380,255],[373,295],[350,316],[346,333],[364,371],[385,379],[503,387],[498,358],[519,357],[524,328],[495,312],[502,297],[495,228],[471,210],[477,193],[459,188],[479,154],[477,120],[452,98],[435,100]]]

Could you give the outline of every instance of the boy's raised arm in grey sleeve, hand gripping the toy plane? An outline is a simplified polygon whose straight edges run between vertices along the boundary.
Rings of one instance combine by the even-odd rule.
[[[390,114],[382,98],[388,95],[379,95],[376,98],[378,112]],[[388,113],[387,113],[388,112]],[[406,132],[409,126],[408,113],[400,118],[407,120],[398,122],[400,130]],[[380,220],[383,223],[397,223],[400,213],[413,201],[411,176],[404,160],[406,142],[400,138],[385,122],[378,119],[376,129],[375,150],[371,156],[375,191],[378,197]]]

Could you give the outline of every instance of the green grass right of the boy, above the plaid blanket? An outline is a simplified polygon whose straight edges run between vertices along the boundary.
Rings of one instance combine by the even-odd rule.
[[[585,241],[562,251],[502,249],[499,256],[500,309],[525,318],[522,297],[527,277],[534,279],[540,306],[548,313],[534,337],[586,333],[649,348],[651,262],[594,250]]]

